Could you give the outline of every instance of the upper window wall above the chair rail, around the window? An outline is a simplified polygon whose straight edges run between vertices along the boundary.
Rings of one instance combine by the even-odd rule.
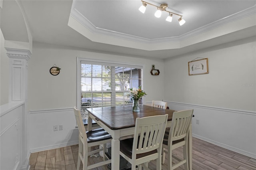
[[[33,55],[28,68],[28,101],[30,111],[70,108],[76,105],[76,58],[92,58],[145,64],[145,101],[162,100],[164,96],[164,62],[162,60],[126,57],[96,53],[43,43],[33,44]],[[60,74],[53,76],[50,68],[56,64]],[[152,64],[160,69],[160,75],[150,74]],[[158,89],[156,91],[156,88]]]

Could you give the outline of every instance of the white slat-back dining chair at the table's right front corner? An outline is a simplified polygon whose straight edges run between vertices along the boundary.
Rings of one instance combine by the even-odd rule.
[[[166,128],[162,145],[162,164],[164,164],[165,153],[167,152],[168,170],[173,170],[184,164],[184,169],[188,170],[188,132],[192,120],[193,109],[174,112],[170,128]],[[172,150],[183,146],[183,159],[172,155]],[[178,163],[172,164],[172,157]]]

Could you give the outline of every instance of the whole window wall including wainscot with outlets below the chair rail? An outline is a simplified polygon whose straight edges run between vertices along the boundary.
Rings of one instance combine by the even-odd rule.
[[[76,105],[76,58],[102,59],[142,63],[144,68],[145,102],[162,100],[164,96],[164,61],[83,51],[45,43],[33,43],[33,55],[28,67],[29,135],[32,152],[69,145],[78,141],[72,107]],[[53,76],[50,68],[56,64],[60,74]],[[152,64],[160,75],[150,74]],[[53,131],[53,125],[64,130]],[[38,135],[40,134],[40,135]],[[44,135],[42,135],[44,134]]]

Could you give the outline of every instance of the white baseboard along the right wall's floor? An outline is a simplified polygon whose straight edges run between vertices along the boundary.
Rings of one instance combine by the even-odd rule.
[[[209,143],[211,143],[211,144],[215,144],[215,145],[220,146],[220,147],[222,147],[222,148],[226,148],[226,149],[228,149],[228,150],[232,150],[232,151],[234,151],[234,152],[237,152],[237,153],[240,153],[240,154],[243,154],[243,155],[246,155],[246,156],[249,156],[249,157],[251,157],[251,158],[256,159],[256,154],[253,154],[253,153],[251,153],[251,152],[246,152],[246,151],[244,151],[244,150],[241,150],[241,149],[238,149],[238,148],[234,148],[233,146],[229,146],[229,145],[226,145],[226,144],[223,144],[223,143],[220,143],[220,142],[216,142],[216,141],[214,141],[214,140],[211,140],[211,139],[208,139],[208,138],[204,138],[204,137],[198,136],[198,135],[196,135],[196,134],[192,134],[192,136],[195,137],[195,138],[204,140],[204,141],[206,141],[206,142],[209,142]]]

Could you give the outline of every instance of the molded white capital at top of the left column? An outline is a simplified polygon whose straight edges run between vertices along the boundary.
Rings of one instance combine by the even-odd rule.
[[[26,59],[27,61],[31,57],[31,52],[28,49],[15,49],[15,48],[5,48],[7,51],[7,56],[9,58],[19,58]]]

